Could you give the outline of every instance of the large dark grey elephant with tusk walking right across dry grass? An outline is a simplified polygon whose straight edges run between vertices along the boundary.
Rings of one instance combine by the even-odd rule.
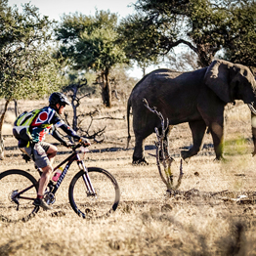
[[[181,151],[183,159],[199,152],[208,130],[216,159],[220,160],[224,158],[224,107],[228,103],[235,103],[235,100],[241,100],[248,104],[255,118],[255,90],[255,78],[247,66],[223,60],[214,60],[209,66],[189,72],[176,72],[167,68],[151,71],[135,85],[127,103],[128,139],[131,138],[131,107],[133,113],[133,163],[146,162],[144,141],[154,132],[155,127],[161,127],[160,119],[145,107],[144,99],[148,101],[149,107],[156,107],[165,119],[168,118],[169,131],[173,125],[189,122],[192,148]],[[252,127],[252,133],[255,154],[256,126]]]

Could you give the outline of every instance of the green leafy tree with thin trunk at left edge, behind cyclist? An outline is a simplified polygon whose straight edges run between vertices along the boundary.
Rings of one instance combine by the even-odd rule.
[[[59,64],[47,46],[51,24],[29,4],[20,14],[7,0],[0,0],[0,98],[6,100],[0,116],[2,146],[2,126],[10,101],[37,99],[60,88]]]

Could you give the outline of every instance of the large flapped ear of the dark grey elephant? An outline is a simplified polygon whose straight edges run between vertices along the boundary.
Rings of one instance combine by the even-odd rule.
[[[205,84],[225,103],[232,102],[229,84],[230,65],[225,61],[213,61],[207,68]]]

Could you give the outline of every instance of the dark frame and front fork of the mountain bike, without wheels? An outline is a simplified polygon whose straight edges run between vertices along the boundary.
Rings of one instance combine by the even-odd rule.
[[[79,167],[80,170],[83,170],[84,171],[84,175],[83,175],[83,180],[84,180],[84,183],[85,183],[85,186],[87,188],[87,191],[88,191],[88,195],[97,195],[97,193],[95,192],[94,188],[93,188],[93,185],[91,183],[91,180],[90,180],[90,177],[88,175],[88,171],[87,171],[87,168],[83,162],[83,160],[81,160],[80,156],[79,156],[79,151],[76,151],[75,149],[79,148],[81,145],[77,145],[73,148],[73,152],[71,153],[71,155],[69,155],[67,158],[64,159],[64,161],[62,161],[59,165],[57,165],[55,168],[54,168],[54,172],[59,168],[61,167],[62,165],[64,165],[64,163],[66,163],[65,167],[64,167],[64,171],[62,172],[58,182],[56,185],[53,185],[54,189],[51,193],[55,194],[58,189],[60,188],[62,182],[64,181],[64,176],[66,175],[71,163],[73,161],[77,161],[77,165]],[[38,184],[39,184],[39,181],[38,181]],[[27,192],[28,190],[30,190],[31,188],[33,188],[34,186],[29,186],[28,188],[22,190],[21,192],[18,192],[16,194],[14,194],[12,196],[12,199],[15,201],[16,199],[18,198],[22,198],[22,199],[28,199],[28,200],[34,200],[35,198],[30,198],[30,197],[25,197],[25,196],[21,196],[21,194],[23,192]]]

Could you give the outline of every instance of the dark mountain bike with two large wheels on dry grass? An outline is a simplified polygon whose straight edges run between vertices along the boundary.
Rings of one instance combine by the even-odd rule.
[[[104,218],[116,210],[120,200],[119,186],[114,177],[98,167],[86,167],[80,153],[86,151],[85,145],[78,143],[72,152],[54,168],[54,173],[62,166],[63,172],[57,182],[50,180],[44,199],[48,205],[56,201],[56,192],[72,162],[76,161],[79,171],[72,178],[68,188],[68,198],[72,209],[78,216]],[[87,149],[88,150],[88,149]],[[19,169],[0,173],[0,220],[5,222],[27,221],[38,211],[39,206],[32,203],[37,196],[39,180]]]

